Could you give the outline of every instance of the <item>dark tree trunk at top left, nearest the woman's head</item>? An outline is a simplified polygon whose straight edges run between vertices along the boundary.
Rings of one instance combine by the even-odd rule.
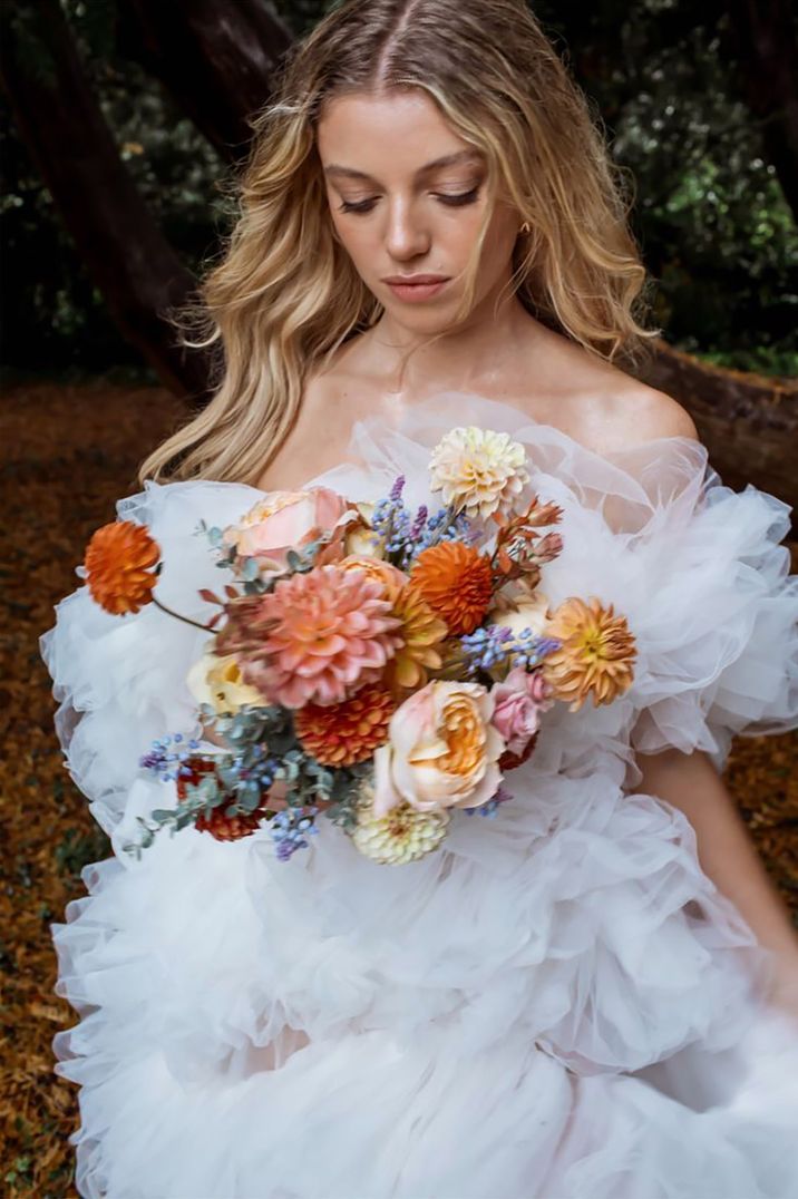
[[[292,36],[265,0],[119,0],[120,42],[228,161],[269,100]]]

